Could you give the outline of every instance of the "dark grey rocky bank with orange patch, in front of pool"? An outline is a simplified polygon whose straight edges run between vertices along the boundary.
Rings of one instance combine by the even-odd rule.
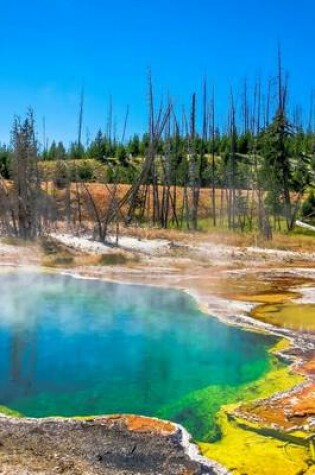
[[[179,425],[138,416],[0,417],[6,475],[227,475]]]

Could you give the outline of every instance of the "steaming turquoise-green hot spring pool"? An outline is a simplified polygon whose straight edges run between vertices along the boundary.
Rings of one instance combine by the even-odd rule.
[[[201,437],[209,395],[223,404],[270,367],[273,338],[179,291],[35,272],[0,286],[0,404],[27,416],[162,415]]]

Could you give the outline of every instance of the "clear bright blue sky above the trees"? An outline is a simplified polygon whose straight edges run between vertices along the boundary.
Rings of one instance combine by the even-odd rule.
[[[312,0],[0,0],[0,140],[14,114],[35,111],[50,139],[75,139],[81,85],[84,134],[105,126],[112,97],[118,131],[146,125],[147,70],[180,106],[215,85],[219,110],[245,77],[274,74],[280,42],[291,96],[306,107],[315,87]],[[119,120],[120,119],[120,120]]]

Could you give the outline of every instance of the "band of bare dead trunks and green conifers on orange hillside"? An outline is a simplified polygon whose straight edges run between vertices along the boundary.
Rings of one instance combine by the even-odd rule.
[[[12,143],[0,148],[2,234],[32,239],[62,227],[93,230],[105,241],[119,225],[227,227],[259,232],[292,231],[312,220],[315,198],[315,114],[288,107],[288,84],[279,56],[275,79],[263,88],[244,83],[230,92],[226,123],[206,81],[180,114],[171,99],[156,105],[148,80],[148,127],[142,136],[118,139],[111,113],[106,131],[68,149],[53,141],[39,147],[32,111],[16,118]],[[96,184],[98,186],[96,186]]]

